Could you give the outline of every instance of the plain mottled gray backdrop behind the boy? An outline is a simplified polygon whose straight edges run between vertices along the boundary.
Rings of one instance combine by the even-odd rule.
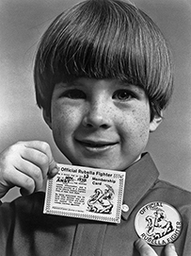
[[[77,0],[0,1],[0,151],[21,140],[44,140],[57,162],[66,162],[36,106],[35,51],[44,29]],[[161,179],[191,191],[191,0],[135,0],[171,45],[175,91],[162,125],[151,134],[151,152]],[[13,189],[6,200],[18,196]]]

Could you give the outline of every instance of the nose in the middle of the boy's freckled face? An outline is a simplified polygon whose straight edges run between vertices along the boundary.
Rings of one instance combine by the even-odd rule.
[[[110,128],[111,108],[103,100],[89,103],[83,118],[83,126],[87,128]]]

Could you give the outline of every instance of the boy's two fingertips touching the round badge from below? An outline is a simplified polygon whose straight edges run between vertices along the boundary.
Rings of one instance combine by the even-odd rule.
[[[156,252],[143,239],[138,239],[135,242],[135,247],[139,251],[140,256],[157,256]],[[178,256],[173,244],[168,244],[166,246],[165,255]]]

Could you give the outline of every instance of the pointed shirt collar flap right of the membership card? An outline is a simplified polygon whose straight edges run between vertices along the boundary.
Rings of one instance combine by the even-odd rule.
[[[139,161],[126,169],[123,204],[128,205],[129,211],[121,213],[123,219],[127,220],[135,205],[151,188],[158,176],[159,172],[149,153],[145,153]]]

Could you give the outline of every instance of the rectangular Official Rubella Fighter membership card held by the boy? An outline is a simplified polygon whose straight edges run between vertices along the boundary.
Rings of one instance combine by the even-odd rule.
[[[47,180],[43,213],[120,222],[125,172],[57,164]]]

